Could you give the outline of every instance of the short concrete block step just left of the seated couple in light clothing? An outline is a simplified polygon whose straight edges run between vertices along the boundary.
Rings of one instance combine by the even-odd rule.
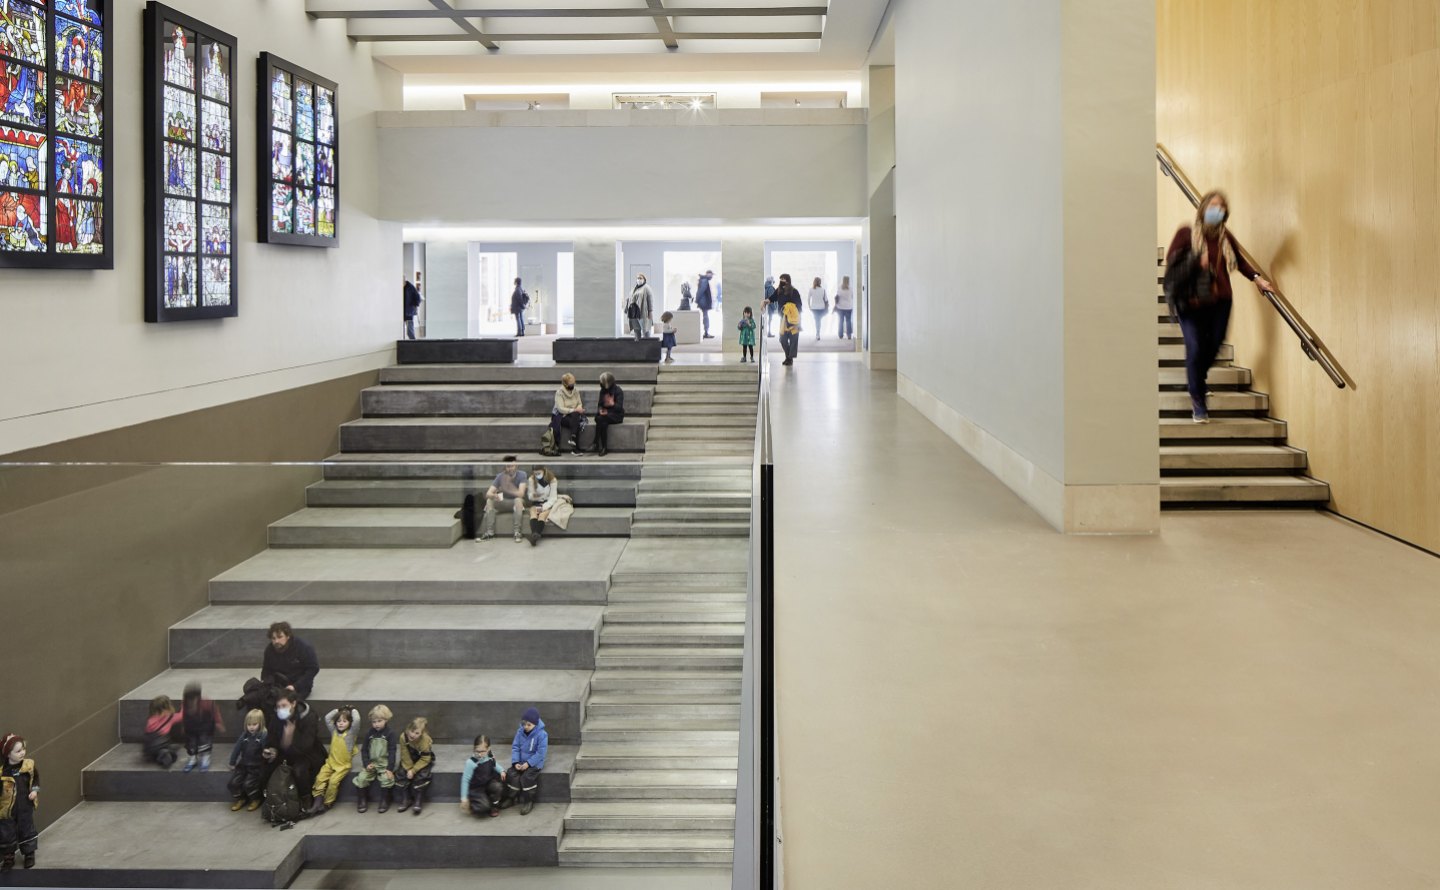
[[[307,507],[269,527],[271,547],[449,547],[455,508]]]

